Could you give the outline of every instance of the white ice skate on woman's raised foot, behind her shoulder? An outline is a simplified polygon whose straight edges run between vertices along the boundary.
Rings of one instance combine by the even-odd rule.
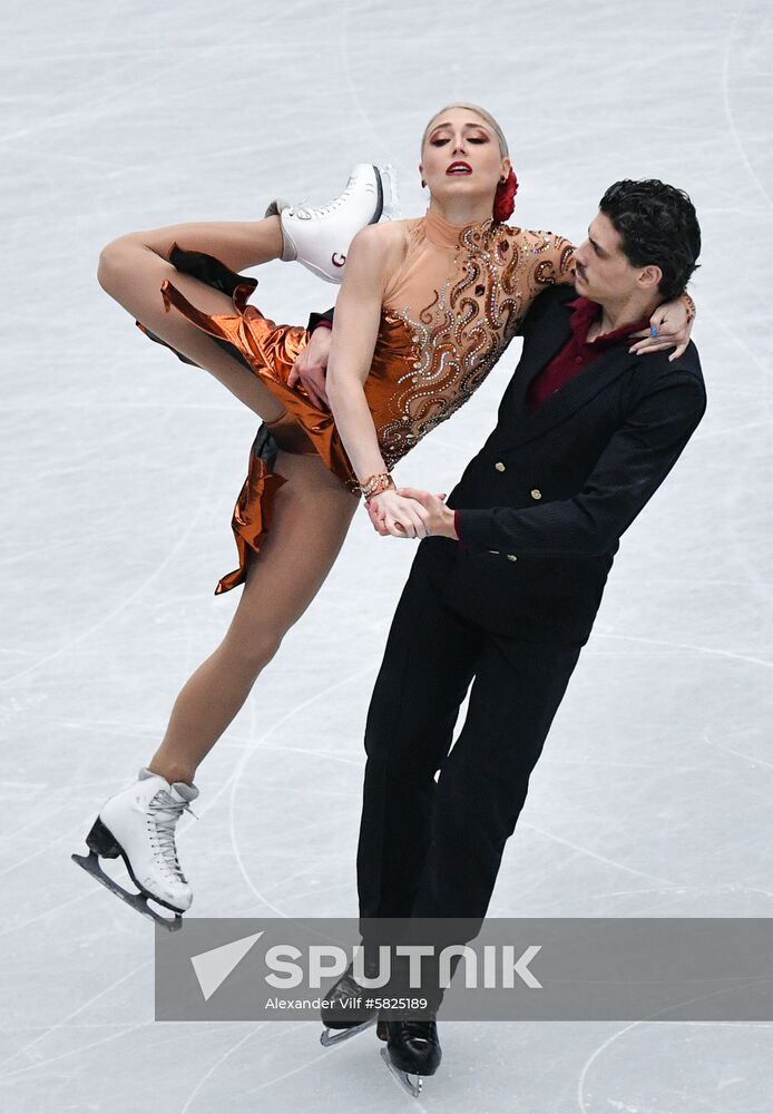
[[[329,205],[291,205],[277,197],[266,216],[278,216],[285,263],[296,261],[324,278],[343,281],[346,253],[355,233],[383,217],[394,219],[398,212],[397,174],[391,166],[359,163],[346,188]]]

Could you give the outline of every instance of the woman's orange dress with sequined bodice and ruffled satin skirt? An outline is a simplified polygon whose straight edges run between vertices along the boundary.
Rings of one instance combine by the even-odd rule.
[[[527,232],[488,219],[459,227],[432,209],[399,226],[404,253],[384,291],[384,303],[364,392],[379,447],[391,470],[409,449],[463,405],[510,343],[534,299],[545,286],[571,282],[574,248],[561,236]],[[202,252],[177,244],[170,262],[231,295],[235,313],[197,310],[165,280],[162,295],[245,364],[276,395],[286,414],[264,422],[249,456],[232,528],[239,566],[224,576],[215,595],[245,579],[247,551],[260,551],[271,527],[274,492],[284,479],[274,472],[276,449],[317,452],[351,490],[356,477],[333,416],[320,410],[301,383],[287,385],[295,359],[309,342],[299,325],[277,325],[247,303],[257,280],[228,270]],[[150,340],[166,344],[137,322]],[[172,348],[172,345],[166,345]],[[187,356],[173,349],[185,363]]]

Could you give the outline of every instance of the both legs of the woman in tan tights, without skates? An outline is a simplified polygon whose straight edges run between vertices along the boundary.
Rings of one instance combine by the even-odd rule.
[[[100,285],[134,317],[209,371],[265,421],[284,408],[260,379],[160,295],[165,278],[203,312],[233,314],[232,300],[169,263],[172,245],[199,251],[234,271],[282,254],[278,217],[255,224],[172,225],[123,236],[102,250]],[[286,482],[275,495],[274,518],[260,555],[253,555],[242,598],[223,643],[193,674],[173,707],[149,763],[167,781],[193,782],[196,769],[246,700],[261,670],[324,583],[358,500],[316,456],[280,451]]]

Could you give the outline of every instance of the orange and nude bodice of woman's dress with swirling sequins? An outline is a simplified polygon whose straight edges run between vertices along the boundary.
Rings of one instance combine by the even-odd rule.
[[[457,227],[431,209],[404,222],[365,397],[389,468],[480,387],[545,286],[573,281],[560,236],[485,221]]]

